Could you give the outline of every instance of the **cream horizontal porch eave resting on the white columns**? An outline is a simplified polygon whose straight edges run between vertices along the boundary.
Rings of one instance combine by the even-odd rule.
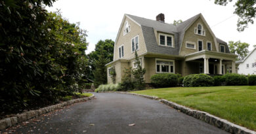
[[[192,60],[201,59],[201,58],[215,58],[215,59],[236,61],[236,57],[237,57],[236,54],[202,50],[200,52],[187,54],[184,56],[184,59],[185,59],[185,61],[192,61]]]

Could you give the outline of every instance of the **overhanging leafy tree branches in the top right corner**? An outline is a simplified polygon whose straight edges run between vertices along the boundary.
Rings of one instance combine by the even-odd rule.
[[[215,0],[215,4],[226,6],[228,2],[232,0]],[[237,30],[244,31],[248,27],[248,24],[253,24],[253,19],[256,15],[256,1],[255,0],[238,0],[236,1],[234,7],[236,7],[234,14],[239,16],[237,23]]]

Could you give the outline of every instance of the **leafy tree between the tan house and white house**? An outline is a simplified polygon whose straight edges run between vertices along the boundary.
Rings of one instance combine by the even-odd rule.
[[[238,58],[237,58],[238,60],[243,60],[249,52],[249,50],[248,50],[249,44],[246,42],[229,41],[228,47],[229,47],[231,53],[238,55]]]

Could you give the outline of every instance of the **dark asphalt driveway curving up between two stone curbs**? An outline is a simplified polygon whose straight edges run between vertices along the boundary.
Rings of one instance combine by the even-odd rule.
[[[121,93],[95,93],[95,97],[10,127],[7,132],[226,133],[159,101]]]

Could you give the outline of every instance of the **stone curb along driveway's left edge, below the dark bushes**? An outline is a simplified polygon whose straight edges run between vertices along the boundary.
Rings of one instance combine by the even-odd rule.
[[[37,116],[40,116],[42,114],[46,114],[47,112],[51,112],[55,109],[60,109],[62,107],[74,104],[74,103],[79,103],[82,101],[87,101],[89,99],[93,99],[95,97],[95,95],[93,94],[90,97],[83,97],[83,98],[79,98],[79,99],[72,99],[70,101],[65,101],[63,103],[59,103],[56,105],[52,105],[49,107],[44,107],[38,110],[30,110],[28,112],[22,112],[21,114],[15,114],[12,117],[9,118],[4,118],[2,120],[0,120],[0,130],[6,129],[7,127],[11,127],[14,126],[18,123],[21,122],[26,122],[27,120],[30,120],[31,118],[35,118]]]

